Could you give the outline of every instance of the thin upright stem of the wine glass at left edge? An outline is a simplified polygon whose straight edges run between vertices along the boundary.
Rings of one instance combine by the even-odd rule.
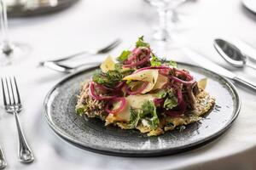
[[[7,19],[7,9],[5,0],[0,0],[0,8],[1,8],[1,29],[2,29],[2,36],[3,36],[3,53],[9,54],[12,51],[9,37],[8,37],[8,19]]]

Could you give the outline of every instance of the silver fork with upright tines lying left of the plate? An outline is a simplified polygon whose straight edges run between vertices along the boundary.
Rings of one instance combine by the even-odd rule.
[[[20,101],[20,93],[17,86],[16,78],[9,77],[9,82],[5,77],[5,88],[4,81],[1,78],[2,88],[3,88],[3,105],[5,111],[8,113],[12,113],[15,116],[15,122],[17,126],[18,136],[19,136],[19,161],[22,163],[29,163],[34,161],[34,156],[32,154],[32,150],[28,146],[22,129],[20,127],[19,121],[19,112],[22,110],[22,105]],[[15,87],[15,88],[14,88]],[[15,90],[14,90],[15,89]]]

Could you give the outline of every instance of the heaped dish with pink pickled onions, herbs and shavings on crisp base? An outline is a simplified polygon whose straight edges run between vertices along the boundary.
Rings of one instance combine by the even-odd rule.
[[[143,37],[116,60],[108,56],[101,71],[82,83],[80,116],[157,136],[200,121],[215,103],[205,90],[206,78],[197,82],[176,62],[160,59]]]

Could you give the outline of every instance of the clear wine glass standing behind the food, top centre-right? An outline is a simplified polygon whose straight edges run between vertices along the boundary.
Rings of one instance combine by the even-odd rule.
[[[186,0],[147,0],[147,2],[156,8],[156,11],[159,15],[159,26],[155,29],[152,34],[154,41],[164,43],[168,48],[178,48],[183,44],[183,38],[177,37],[175,34],[169,31],[170,25],[173,23],[167,23],[169,18],[176,17],[175,9],[181,3],[184,3]],[[172,26],[171,26],[172,27]]]

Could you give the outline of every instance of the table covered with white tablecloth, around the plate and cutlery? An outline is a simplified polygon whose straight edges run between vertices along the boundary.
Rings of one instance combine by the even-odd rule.
[[[177,13],[184,26],[172,33],[183,37],[183,47],[256,82],[256,71],[230,66],[212,45],[214,38],[236,37],[247,42],[252,47],[250,54],[256,56],[256,14],[244,8],[241,0],[189,1],[178,7]],[[44,98],[67,74],[44,68],[38,65],[40,61],[100,48],[120,38],[119,47],[108,53],[116,57],[122,49],[131,48],[137,37],[150,36],[156,23],[156,11],[143,0],[81,0],[57,13],[9,18],[10,39],[29,44],[31,53],[13,65],[0,67],[0,77],[17,79],[24,108],[20,123],[35,161],[18,161],[15,118],[4,111],[0,93],[0,145],[8,163],[6,169],[256,169],[256,92],[236,83],[241,111],[229,130],[208,144],[170,156],[107,156],[81,150],[57,137],[49,127],[43,113]],[[192,54],[184,55],[178,48],[157,53],[166,59],[195,62]],[[79,62],[102,62],[108,54],[84,56]]]

